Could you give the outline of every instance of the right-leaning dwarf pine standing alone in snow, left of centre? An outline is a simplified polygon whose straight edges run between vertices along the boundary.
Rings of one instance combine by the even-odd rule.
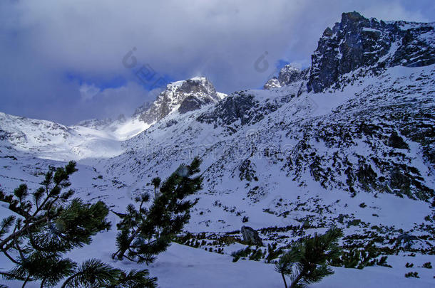
[[[117,228],[116,238],[118,250],[113,258],[123,257],[136,262],[150,263],[155,255],[163,252],[183,230],[190,219],[190,208],[196,201],[185,198],[202,188],[202,176],[195,176],[200,171],[200,159],[193,159],[188,166],[182,164],[161,185],[160,178],[153,179],[153,185],[160,185],[160,193],[156,195],[149,208],[145,208],[150,197],[143,194],[136,198],[138,208],[133,204],[127,207],[125,214],[117,213],[121,222]]]

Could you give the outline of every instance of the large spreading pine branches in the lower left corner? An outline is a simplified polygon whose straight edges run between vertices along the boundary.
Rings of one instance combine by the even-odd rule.
[[[64,278],[67,279],[63,287],[155,287],[134,284],[141,283],[142,276],[141,281],[153,284],[155,279],[146,273],[131,277],[135,280],[130,286],[122,286],[128,282],[121,270],[99,260],[88,260],[78,266],[63,257],[74,247],[90,244],[93,235],[111,227],[106,220],[106,204],[71,200],[74,192],[63,191],[71,186],[69,176],[75,171],[76,164],[71,161],[63,168],[48,171],[41,187],[33,193],[25,184],[11,195],[0,191],[0,201],[9,204],[9,210],[15,214],[0,223],[0,250],[15,264],[11,270],[0,272],[1,276],[21,280],[23,287],[28,282],[52,287]]]

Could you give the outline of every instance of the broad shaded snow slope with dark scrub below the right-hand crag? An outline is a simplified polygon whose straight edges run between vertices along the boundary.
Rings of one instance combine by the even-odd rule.
[[[128,171],[134,185],[146,187],[150,178],[201,156],[205,189],[193,217],[198,231],[238,229],[243,216],[257,228],[306,218],[324,223],[324,215],[292,209],[304,202],[298,197],[333,204],[327,223],[349,213],[347,221],[365,215],[368,223],[411,230],[425,223],[431,213],[425,201],[434,196],[434,164],[426,146],[433,140],[428,124],[433,119],[424,117],[434,111],[434,81],[430,65],[391,68],[335,92],[307,93],[303,82],[236,92],[129,139],[125,154],[105,162],[106,173]],[[287,205],[275,207],[280,198]],[[403,215],[414,216],[396,221],[388,204],[394,201],[403,203]],[[358,208],[363,202],[372,206]]]

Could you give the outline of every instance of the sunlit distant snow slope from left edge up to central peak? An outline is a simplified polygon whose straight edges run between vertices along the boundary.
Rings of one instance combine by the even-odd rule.
[[[143,132],[168,114],[196,110],[225,96],[216,92],[206,78],[198,77],[168,84],[153,103],[143,105],[128,118],[120,115],[116,120],[89,119],[66,127],[0,112],[0,139],[19,151],[46,159],[110,158],[123,153],[123,141]]]

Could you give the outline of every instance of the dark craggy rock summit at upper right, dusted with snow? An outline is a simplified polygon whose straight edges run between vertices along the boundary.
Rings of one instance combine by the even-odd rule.
[[[307,88],[320,92],[358,68],[379,73],[387,67],[435,63],[434,23],[379,21],[357,12],[342,14],[326,28],[312,55]]]

